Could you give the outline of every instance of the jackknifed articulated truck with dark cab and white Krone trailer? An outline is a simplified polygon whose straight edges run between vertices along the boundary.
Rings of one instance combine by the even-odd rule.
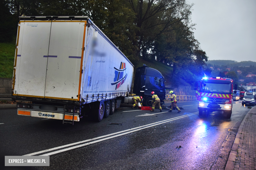
[[[22,16],[18,24],[12,99],[17,114],[74,124],[96,121],[132,103],[134,66],[87,16]],[[133,92],[151,104],[151,91],[165,98],[164,78],[144,65]],[[146,103],[145,103],[146,102]]]

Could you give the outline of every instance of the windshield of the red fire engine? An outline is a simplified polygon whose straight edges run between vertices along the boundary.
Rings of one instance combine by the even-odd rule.
[[[204,83],[205,86],[202,86],[204,91],[209,92],[223,92],[223,93],[231,93],[230,84],[220,84],[220,83]]]

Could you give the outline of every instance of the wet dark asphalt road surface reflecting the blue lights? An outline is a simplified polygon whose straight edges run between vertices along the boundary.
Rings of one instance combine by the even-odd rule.
[[[183,108],[181,113],[160,113],[156,109],[153,114],[122,105],[102,122],[83,117],[74,126],[62,125],[61,120],[18,116],[15,109],[0,110],[0,169],[224,169],[237,130],[249,111],[247,106],[234,102],[230,119],[221,112],[199,117],[197,102],[178,102],[178,106]],[[170,122],[154,126],[163,120]],[[153,125],[144,126],[148,124]],[[132,133],[127,130],[136,127]],[[97,137],[82,142],[85,146],[74,144]],[[57,153],[35,154],[50,154],[48,167],[4,166],[4,156],[22,156],[68,144],[53,150]],[[70,149],[72,146],[77,147]]]

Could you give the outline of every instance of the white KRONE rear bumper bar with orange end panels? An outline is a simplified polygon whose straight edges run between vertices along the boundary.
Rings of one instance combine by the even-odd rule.
[[[34,110],[18,110],[18,115],[63,120],[63,114],[62,113],[52,113],[52,112],[34,111]],[[73,114],[72,115],[71,114],[65,114],[65,119],[64,120],[72,121],[73,120]],[[79,122],[79,116],[78,115],[75,115],[74,121]]]

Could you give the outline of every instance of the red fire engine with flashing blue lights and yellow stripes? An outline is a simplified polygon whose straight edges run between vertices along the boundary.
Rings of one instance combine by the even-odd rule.
[[[221,77],[203,77],[195,83],[196,97],[200,116],[207,116],[212,111],[223,111],[226,118],[232,114],[233,80]],[[234,93],[237,84],[234,85]]]

